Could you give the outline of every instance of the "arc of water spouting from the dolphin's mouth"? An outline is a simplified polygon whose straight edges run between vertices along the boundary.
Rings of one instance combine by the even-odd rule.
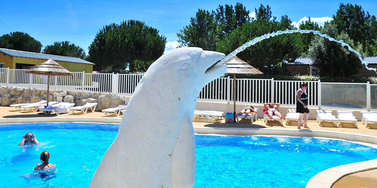
[[[361,61],[362,64],[365,65],[365,68],[368,69],[368,70],[373,70],[376,72],[377,74],[377,69],[376,68],[369,68],[368,67],[368,62],[364,61],[361,54],[359,52],[357,52],[356,50],[352,49],[351,46],[349,46],[349,44],[343,42],[342,40],[338,41],[337,39],[334,39],[334,38],[331,38],[330,36],[328,36],[327,34],[322,34],[320,33],[319,31],[316,31],[316,30],[308,30],[308,29],[305,29],[305,30],[301,30],[301,29],[293,29],[293,30],[285,30],[285,31],[277,31],[277,32],[272,32],[272,33],[267,33],[267,34],[264,34],[262,36],[259,36],[259,37],[256,37],[254,39],[252,39],[251,41],[248,41],[246,42],[245,44],[243,44],[242,46],[238,47],[236,50],[234,50],[233,52],[231,52],[230,54],[228,54],[227,56],[225,56],[224,59],[222,59],[219,64],[222,64],[224,63],[225,61],[227,61],[229,58],[231,58],[231,56],[234,56],[236,55],[238,52],[241,52],[243,50],[245,50],[247,47],[251,46],[251,45],[254,45],[256,44],[257,42],[260,42],[264,39],[267,39],[267,38],[270,38],[270,37],[274,37],[274,36],[277,36],[277,35],[282,35],[282,34],[288,34],[288,33],[313,33],[314,35],[319,35],[323,38],[327,38],[329,39],[330,41],[334,41],[334,42],[338,42],[340,44],[342,44],[342,46],[346,46],[348,47],[348,50],[351,51],[351,52],[354,52],[356,53],[356,55],[359,56],[359,59]]]

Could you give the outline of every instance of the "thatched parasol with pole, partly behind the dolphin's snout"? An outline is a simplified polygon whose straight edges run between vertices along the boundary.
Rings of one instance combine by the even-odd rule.
[[[225,74],[233,74],[233,119],[236,122],[236,74],[263,74],[258,69],[249,65],[247,62],[238,58],[237,56],[231,56],[223,64],[227,65]]]

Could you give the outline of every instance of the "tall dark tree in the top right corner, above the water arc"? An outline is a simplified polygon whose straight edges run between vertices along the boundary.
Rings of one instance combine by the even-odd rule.
[[[377,22],[376,17],[366,13],[360,5],[340,3],[333,15],[333,23],[338,34],[345,31],[355,44],[362,44],[367,56],[377,55]]]

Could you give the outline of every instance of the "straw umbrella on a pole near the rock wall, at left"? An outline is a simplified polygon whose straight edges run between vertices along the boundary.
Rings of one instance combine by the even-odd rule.
[[[50,94],[50,76],[72,76],[73,74],[67,69],[59,65],[52,59],[47,60],[44,63],[41,63],[35,67],[30,68],[25,71],[25,73],[38,74],[38,75],[47,75],[47,106],[48,98]]]

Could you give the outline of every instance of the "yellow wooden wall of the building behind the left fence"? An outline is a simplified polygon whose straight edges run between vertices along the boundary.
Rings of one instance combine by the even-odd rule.
[[[41,64],[45,61],[47,61],[47,60],[46,59],[32,59],[32,58],[13,57],[13,63],[12,63],[12,65],[9,66],[9,68],[15,68],[16,63],[38,65],[38,64]],[[82,71],[85,71],[85,73],[92,73],[93,72],[93,65],[91,65],[91,64],[72,63],[72,62],[66,62],[66,61],[56,61],[56,62],[58,64],[60,64],[61,66],[63,66],[64,68],[66,68],[70,72],[82,72]],[[7,67],[6,64],[5,64],[5,67]]]

